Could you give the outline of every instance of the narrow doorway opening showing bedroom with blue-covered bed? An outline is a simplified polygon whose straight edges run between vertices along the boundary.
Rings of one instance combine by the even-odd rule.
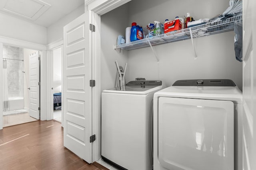
[[[62,47],[50,51],[53,119],[62,123]]]

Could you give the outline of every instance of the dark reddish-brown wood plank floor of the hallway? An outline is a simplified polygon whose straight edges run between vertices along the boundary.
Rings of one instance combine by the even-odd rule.
[[[107,170],[63,146],[56,121],[34,121],[0,130],[0,170]]]

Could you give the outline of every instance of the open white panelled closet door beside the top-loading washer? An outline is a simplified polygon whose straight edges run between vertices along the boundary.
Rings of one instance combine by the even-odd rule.
[[[64,26],[64,146],[92,162],[91,12]]]

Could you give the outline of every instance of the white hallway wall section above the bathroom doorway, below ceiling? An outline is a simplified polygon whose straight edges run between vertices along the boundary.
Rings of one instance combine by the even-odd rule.
[[[46,27],[0,14],[0,36],[46,45]]]

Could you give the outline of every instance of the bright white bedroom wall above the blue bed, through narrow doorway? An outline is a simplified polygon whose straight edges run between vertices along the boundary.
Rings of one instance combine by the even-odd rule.
[[[61,48],[53,51],[53,93],[61,92]]]

